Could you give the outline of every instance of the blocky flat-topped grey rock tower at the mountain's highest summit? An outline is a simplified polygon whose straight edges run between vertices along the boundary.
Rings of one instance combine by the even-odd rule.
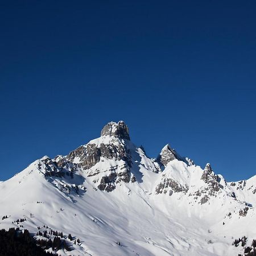
[[[118,137],[120,139],[127,139],[130,141],[129,129],[123,121],[119,121],[118,123],[107,123],[101,130],[101,136],[106,135]]]

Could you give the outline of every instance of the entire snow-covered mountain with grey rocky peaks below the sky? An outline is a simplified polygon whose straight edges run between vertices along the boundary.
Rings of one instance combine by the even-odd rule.
[[[0,229],[28,229],[36,239],[62,232],[72,251],[61,255],[238,255],[235,239],[250,246],[256,238],[255,204],[256,176],[227,183],[168,144],[148,158],[119,121],[0,183]]]

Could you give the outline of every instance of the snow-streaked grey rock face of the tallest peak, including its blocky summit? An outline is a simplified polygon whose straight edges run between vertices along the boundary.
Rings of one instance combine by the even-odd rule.
[[[70,152],[67,160],[77,163],[84,171],[88,170],[88,176],[94,177],[93,182],[98,184],[98,189],[111,192],[119,182],[136,180],[130,172],[131,154],[127,141],[130,141],[130,136],[126,124],[123,121],[110,122],[102,129],[99,139]],[[108,160],[113,161],[111,166]],[[104,162],[106,164],[102,165]]]

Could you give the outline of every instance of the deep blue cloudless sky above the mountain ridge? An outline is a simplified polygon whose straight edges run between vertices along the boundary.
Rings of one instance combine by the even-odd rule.
[[[256,174],[255,1],[1,1],[0,180],[124,120],[228,181]]]

